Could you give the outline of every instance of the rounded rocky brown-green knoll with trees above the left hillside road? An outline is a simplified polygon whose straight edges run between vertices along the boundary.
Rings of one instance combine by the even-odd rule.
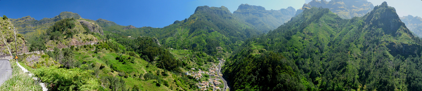
[[[102,34],[103,29],[89,20],[65,18],[55,22],[38,38],[41,38],[47,49],[52,50],[54,47],[65,48],[98,42],[96,33]]]

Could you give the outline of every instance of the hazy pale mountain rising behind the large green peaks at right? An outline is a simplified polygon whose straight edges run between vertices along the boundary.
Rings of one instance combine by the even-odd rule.
[[[350,19],[353,17],[361,17],[373,9],[371,2],[367,0],[312,0],[308,4],[304,4],[302,8],[297,11],[297,14],[302,12],[305,8],[312,7],[329,8],[333,13],[341,18]]]

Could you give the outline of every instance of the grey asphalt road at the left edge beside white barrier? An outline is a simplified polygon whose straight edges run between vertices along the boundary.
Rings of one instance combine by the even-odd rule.
[[[0,60],[0,85],[12,77],[12,68],[9,60]]]

